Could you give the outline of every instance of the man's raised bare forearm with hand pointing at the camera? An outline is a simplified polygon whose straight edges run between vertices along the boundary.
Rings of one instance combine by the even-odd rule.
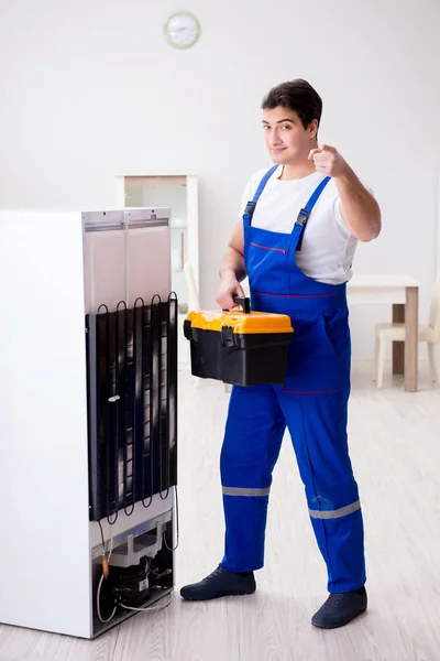
[[[341,198],[340,213],[352,235],[360,241],[378,237],[381,208],[334,147],[323,144],[312,149],[309,159],[314,160],[317,172],[334,178]]]

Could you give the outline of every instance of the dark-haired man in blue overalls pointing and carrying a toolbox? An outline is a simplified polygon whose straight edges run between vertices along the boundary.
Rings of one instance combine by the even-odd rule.
[[[255,592],[272,483],[286,426],[327,564],[329,598],[312,617],[340,627],[366,609],[363,523],[348,452],[350,330],[346,281],[358,240],[381,231],[371,192],[339,152],[318,147],[322,102],[301,79],[263,100],[275,165],[251,178],[220,268],[217,302],[233,307],[249,277],[252,308],[288,314],[295,329],[283,387],[234,387],[221,453],[226,551],[185,599]]]

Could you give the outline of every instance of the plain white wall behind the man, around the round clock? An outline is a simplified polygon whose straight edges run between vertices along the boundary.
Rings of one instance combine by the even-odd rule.
[[[374,188],[384,230],[358,272],[436,264],[440,133],[437,0],[276,3],[188,0],[202,34],[170,48],[170,0],[0,0],[0,207],[113,206],[113,176],[200,176],[202,304],[249,176],[267,164],[260,102],[305,77],[324,100],[321,141]],[[388,310],[353,311],[354,355],[370,356]]]

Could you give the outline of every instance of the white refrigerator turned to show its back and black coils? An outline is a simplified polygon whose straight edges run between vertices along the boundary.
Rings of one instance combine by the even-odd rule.
[[[3,624],[95,638],[170,598],[169,215],[0,212]]]

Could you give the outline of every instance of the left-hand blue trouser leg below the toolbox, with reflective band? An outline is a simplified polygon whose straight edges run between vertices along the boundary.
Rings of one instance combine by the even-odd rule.
[[[226,519],[221,564],[231,572],[264,564],[268,492],[284,430],[272,386],[232,389],[220,459]]]

